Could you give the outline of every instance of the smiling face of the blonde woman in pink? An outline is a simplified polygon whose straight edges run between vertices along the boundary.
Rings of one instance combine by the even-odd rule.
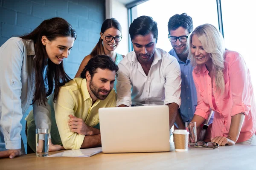
[[[203,45],[200,40],[198,40],[198,36],[196,34],[192,35],[192,42],[191,42],[191,53],[195,58],[196,64],[202,65],[211,65],[212,59],[210,54],[204,51]]]

